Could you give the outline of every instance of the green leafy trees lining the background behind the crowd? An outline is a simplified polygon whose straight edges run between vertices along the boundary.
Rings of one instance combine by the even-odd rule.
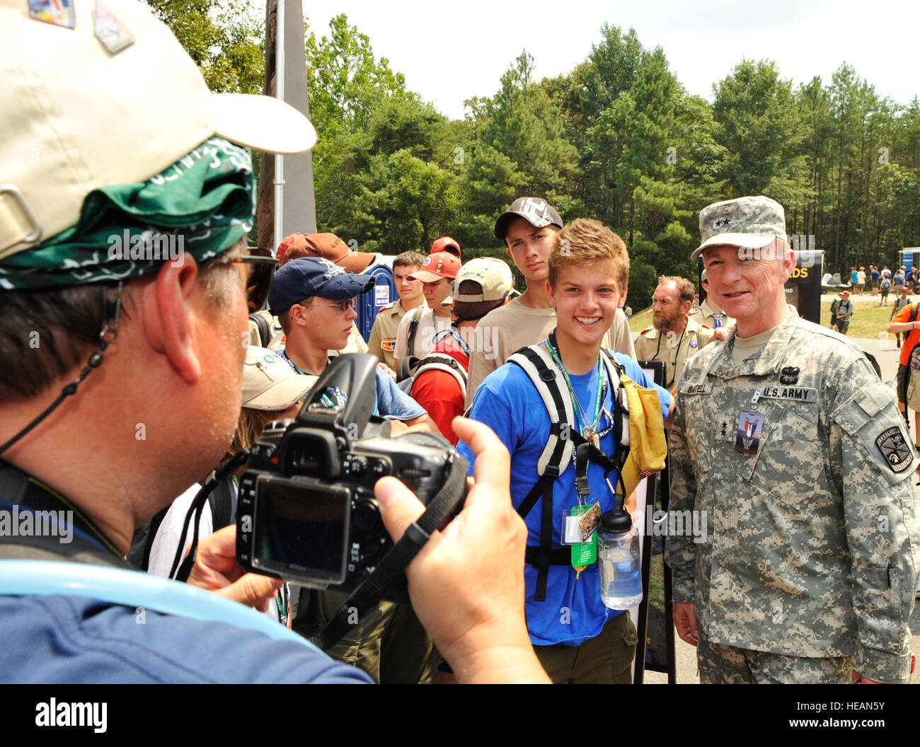
[[[261,90],[264,18],[246,0],[148,3],[213,90]],[[316,212],[320,230],[362,248],[427,251],[450,234],[465,258],[502,256],[495,217],[538,195],[624,237],[639,309],[659,274],[694,277],[696,216],[713,201],[780,201],[788,233],[814,236],[827,271],[892,265],[920,245],[920,100],[880,98],[849,65],[794,87],[776,63],[742,60],[709,104],[664,51],[604,24],[569,74],[536,80],[523,51],[493,95],[448,121],[347,17],[317,33],[305,27]]]

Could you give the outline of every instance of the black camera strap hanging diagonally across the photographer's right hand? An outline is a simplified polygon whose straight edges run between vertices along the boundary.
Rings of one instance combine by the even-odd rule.
[[[459,454],[451,454],[445,467],[448,470],[447,478],[437,495],[429,501],[425,512],[408,526],[406,534],[386,553],[371,575],[341,603],[328,626],[310,638],[317,648],[328,650],[351,629],[354,610],[357,610],[358,619],[361,619],[379,603],[390,584],[397,580],[412,558],[428,542],[431,533],[443,526],[457,511],[465,494],[469,463]]]

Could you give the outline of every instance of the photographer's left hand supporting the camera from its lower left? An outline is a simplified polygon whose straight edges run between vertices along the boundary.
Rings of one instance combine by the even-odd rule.
[[[198,543],[188,583],[266,612],[283,581],[243,571],[236,562],[236,524],[233,524]]]

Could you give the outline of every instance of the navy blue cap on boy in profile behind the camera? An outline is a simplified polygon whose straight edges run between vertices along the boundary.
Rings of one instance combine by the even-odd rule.
[[[370,291],[375,282],[372,275],[347,272],[321,257],[292,259],[275,271],[269,291],[269,309],[278,316],[315,295],[330,301],[354,298]]]

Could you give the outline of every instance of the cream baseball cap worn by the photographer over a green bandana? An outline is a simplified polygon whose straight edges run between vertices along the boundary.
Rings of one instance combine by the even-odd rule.
[[[217,134],[270,153],[316,143],[268,96],[213,94],[138,0],[0,0],[0,259],[77,223],[86,195],[144,181]]]

